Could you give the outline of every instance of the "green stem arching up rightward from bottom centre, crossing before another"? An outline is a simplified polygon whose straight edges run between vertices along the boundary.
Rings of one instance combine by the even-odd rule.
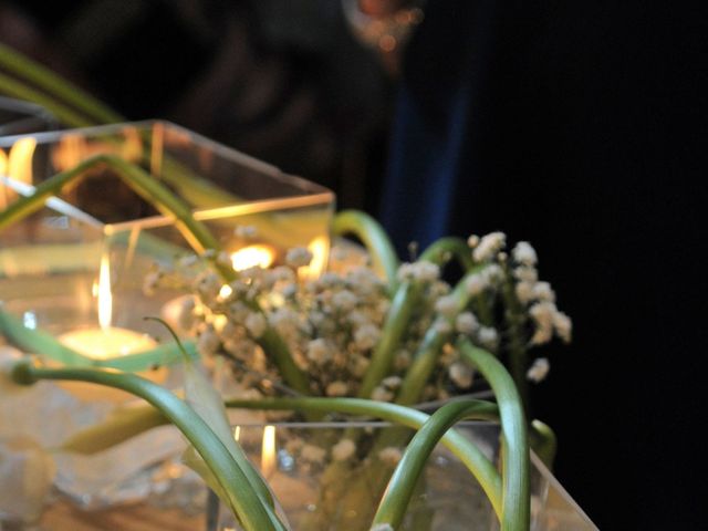
[[[438,441],[455,424],[466,418],[477,418],[486,404],[477,400],[458,400],[435,412],[413,437],[382,498],[374,524],[387,523],[397,529],[403,521],[418,478]]]

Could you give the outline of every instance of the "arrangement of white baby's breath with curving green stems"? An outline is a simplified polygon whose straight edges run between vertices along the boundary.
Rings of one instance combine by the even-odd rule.
[[[65,95],[64,83],[4,48],[0,48],[0,61],[13,72],[29,73],[31,81],[45,88],[61,87]],[[0,77],[0,88],[35,94],[6,76]],[[69,102],[94,119],[106,116],[90,98],[72,95]],[[40,103],[51,104],[52,111],[74,122],[72,125],[85,125],[84,118],[66,113],[61,103],[44,97]],[[539,281],[535,252],[529,243],[520,242],[508,253],[500,232],[467,241],[444,238],[417,260],[400,264],[373,219],[346,211],[336,217],[333,232],[356,236],[371,263],[344,264],[319,279],[301,280],[310,257],[306,250],[293,249],[285,263],[272,270],[237,272],[179,197],[139,167],[111,155],[84,160],[11,204],[0,212],[0,230],[41,207],[95,165],[115,168],[142,197],[174,216],[195,243],[197,256],[158,264],[145,288],[180,287],[191,295],[185,299],[177,327],[197,337],[206,361],[214,355],[230,360],[235,379],[249,393],[227,398],[228,406],[295,410],[306,418],[325,414],[377,417],[419,429],[409,441],[377,440],[372,447],[381,461],[388,448],[407,445],[395,456],[391,480],[381,485],[372,530],[397,528],[423,464],[439,439],[479,480],[501,529],[529,529],[528,429],[542,442],[548,442],[543,440],[548,431],[540,424],[527,423],[527,382],[541,381],[549,369],[544,357],[530,358],[531,347],[553,336],[563,341],[571,336],[570,319],[556,309],[551,287]],[[242,237],[251,233],[248,227],[237,230]],[[442,280],[441,273],[451,260],[462,270],[454,285]],[[52,348],[44,340],[34,344]],[[185,400],[127,372],[45,368],[29,361],[6,367],[6,372],[19,384],[85,381],[144,398],[149,407],[133,412],[133,420],[139,417],[139,421],[125,417],[108,420],[90,434],[79,434],[64,448],[94,451],[150,426],[173,423],[200,456],[196,467],[244,529],[288,529],[263,478],[231,436],[223,397],[216,394],[189,355],[185,360]],[[410,407],[468,393],[475,373],[487,382],[496,404],[467,397],[446,403],[430,416]],[[464,418],[500,421],[504,448],[501,476],[479,448],[448,431]],[[336,450],[340,459],[331,464],[331,473],[342,471],[357,442],[341,441]]]

